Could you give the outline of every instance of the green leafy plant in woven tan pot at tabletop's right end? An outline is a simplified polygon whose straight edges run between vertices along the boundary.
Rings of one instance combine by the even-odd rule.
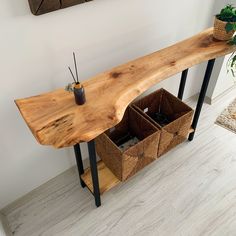
[[[218,40],[229,40],[236,31],[236,8],[226,5],[215,17],[214,38]]]

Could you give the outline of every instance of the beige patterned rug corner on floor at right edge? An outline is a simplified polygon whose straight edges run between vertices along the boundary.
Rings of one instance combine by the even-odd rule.
[[[236,99],[216,119],[216,124],[236,133]]]

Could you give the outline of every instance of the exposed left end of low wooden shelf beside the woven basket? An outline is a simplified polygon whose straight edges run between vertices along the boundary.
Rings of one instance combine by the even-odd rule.
[[[99,161],[97,163],[97,168],[98,168],[100,194],[109,191],[111,188],[121,183],[121,181],[117,179],[116,176],[106,167],[103,161]],[[90,168],[87,168],[85,170],[81,178],[86,184],[86,186],[89,188],[89,190],[93,192],[93,183],[92,183]]]

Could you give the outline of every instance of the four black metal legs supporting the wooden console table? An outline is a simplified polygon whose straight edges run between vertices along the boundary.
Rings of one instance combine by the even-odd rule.
[[[214,63],[215,63],[215,59],[208,61],[206,73],[205,73],[205,76],[203,79],[201,91],[200,91],[198,102],[197,102],[196,111],[195,111],[193,122],[192,122],[192,128],[194,129],[194,132],[192,132],[189,135],[189,141],[192,141],[194,138],[194,134],[195,134],[195,131],[197,128],[198,120],[199,120],[202,106],[204,103],[204,99],[206,96],[207,88],[208,88],[211,74],[213,71]],[[178,98],[181,100],[183,99],[187,75],[188,75],[188,69],[184,70],[182,72],[182,76],[181,76],[179,92],[178,92]],[[78,166],[78,172],[79,172],[79,176],[80,176],[80,183],[81,183],[81,186],[84,188],[86,186],[86,184],[84,183],[84,181],[81,178],[81,175],[84,173],[84,167],[83,167],[83,161],[82,161],[81,150],[80,150],[79,144],[76,144],[74,146],[74,151],[75,151],[76,163]],[[101,206],[101,197],[100,197],[100,189],[99,189],[97,159],[96,159],[96,150],[95,150],[94,140],[88,142],[88,151],[89,151],[91,178],[92,178],[92,182],[93,182],[93,192],[92,193],[94,195],[95,204],[97,207],[99,207],[99,206]]]

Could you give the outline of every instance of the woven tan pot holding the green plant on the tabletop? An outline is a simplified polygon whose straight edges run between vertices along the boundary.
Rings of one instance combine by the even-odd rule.
[[[225,26],[228,22],[221,21],[217,18],[215,18],[215,23],[214,23],[214,31],[213,31],[213,37],[215,39],[221,40],[221,41],[227,41],[230,40],[235,31],[231,30],[230,32],[226,32]]]

